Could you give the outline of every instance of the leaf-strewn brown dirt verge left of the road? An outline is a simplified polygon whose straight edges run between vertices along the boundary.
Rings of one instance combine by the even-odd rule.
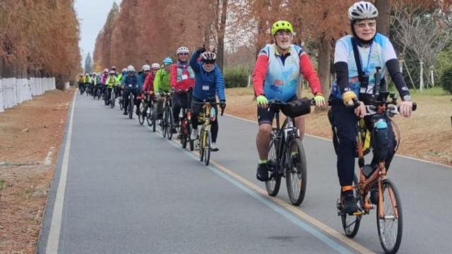
[[[46,92],[0,114],[0,253],[35,253],[73,92]]]

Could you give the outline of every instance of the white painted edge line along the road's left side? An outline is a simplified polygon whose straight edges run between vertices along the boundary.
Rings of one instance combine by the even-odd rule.
[[[47,246],[45,248],[46,254],[58,253],[59,234],[61,231],[61,218],[63,217],[64,193],[66,193],[66,181],[68,177],[69,152],[71,150],[73,111],[76,108],[77,90],[76,92],[74,92],[73,95],[66,145],[64,146],[63,163],[61,164],[61,172],[58,181],[57,195],[55,197],[54,210],[52,213],[52,222],[50,224],[49,238],[47,238]]]

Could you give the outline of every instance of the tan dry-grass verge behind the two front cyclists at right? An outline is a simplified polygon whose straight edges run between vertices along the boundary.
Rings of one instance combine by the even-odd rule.
[[[309,97],[311,93],[306,91],[304,95]],[[227,89],[226,96],[228,114],[257,121],[256,101],[253,100],[252,89]],[[418,109],[412,117],[394,117],[401,133],[399,155],[452,165],[451,99],[452,95],[413,95]],[[331,138],[331,126],[326,111],[306,117],[306,133]]]

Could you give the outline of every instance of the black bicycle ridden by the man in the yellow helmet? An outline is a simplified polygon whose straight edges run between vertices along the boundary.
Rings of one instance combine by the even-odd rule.
[[[305,102],[303,111],[304,114],[308,114],[311,105],[315,103],[312,99],[303,99]],[[290,202],[293,205],[300,205],[306,194],[307,166],[302,140],[299,139],[299,129],[294,125],[296,116],[287,116],[283,126],[280,126],[280,111],[290,107],[290,104],[270,100],[268,107],[269,110],[273,109],[276,112],[276,127],[272,128],[268,148],[268,167],[271,174],[270,180],[266,181],[266,190],[270,196],[278,195],[281,177],[285,177]]]

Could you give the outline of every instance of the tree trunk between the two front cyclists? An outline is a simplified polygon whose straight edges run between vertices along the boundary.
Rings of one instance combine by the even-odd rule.
[[[331,38],[328,36],[321,37],[319,47],[319,80],[322,86],[324,97],[330,95],[330,67],[331,67]]]

